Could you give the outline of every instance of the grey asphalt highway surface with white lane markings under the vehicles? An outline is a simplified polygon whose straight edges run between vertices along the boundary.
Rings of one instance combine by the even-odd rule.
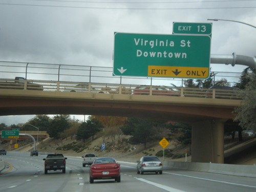
[[[136,164],[121,164],[121,182],[95,180],[89,182],[89,167],[82,167],[81,157],[67,157],[66,173],[60,170],[44,174],[46,155],[30,157],[29,153],[9,152],[2,157],[6,168],[0,174],[0,191],[36,192],[145,192],[145,191],[256,191],[255,178],[190,172],[164,168],[163,174],[138,175]]]

